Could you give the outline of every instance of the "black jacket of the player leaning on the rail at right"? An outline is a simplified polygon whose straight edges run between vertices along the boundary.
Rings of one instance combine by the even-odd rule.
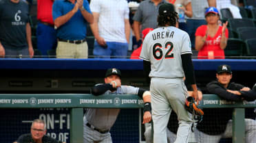
[[[220,98],[225,99],[226,101],[254,101],[256,99],[256,92],[250,90],[248,92],[241,92],[242,95],[237,96],[226,90],[241,90],[244,88],[241,84],[238,83],[229,83],[228,88],[224,88],[222,84],[218,81],[212,81],[206,85],[207,90],[211,94],[216,94]],[[197,129],[203,133],[209,135],[220,135],[224,133],[226,129],[226,124],[228,120],[232,119],[232,108],[208,108],[203,109],[204,117],[202,122],[198,123]]]

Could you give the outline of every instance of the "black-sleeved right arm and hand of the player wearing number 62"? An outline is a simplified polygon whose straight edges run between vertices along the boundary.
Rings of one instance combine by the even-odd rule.
[[[198,101],[198,88],[195,84],[195,73],[194,73],[193,63],[191,59],[191,53],[182,54],[181,57],[182,57],[182,67],[184,70],[186,81],[188,84],[191,85],[193,89],[192,96],[194,97],[195,101]]]

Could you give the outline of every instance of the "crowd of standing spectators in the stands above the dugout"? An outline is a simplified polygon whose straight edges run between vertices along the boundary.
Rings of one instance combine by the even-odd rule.
[[[175,6],[196,58],[256,56],[253,0],[3,0],[0,56],[129,58],[142,44],[142,31],[157,27],[162,3]]]

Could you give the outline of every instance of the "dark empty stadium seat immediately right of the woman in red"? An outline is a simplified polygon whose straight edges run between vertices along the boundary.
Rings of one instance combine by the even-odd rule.
[[[224,49],[226,59],[239,58],[246,52],[245,43],[236,38],[228,38],[226,49]]]

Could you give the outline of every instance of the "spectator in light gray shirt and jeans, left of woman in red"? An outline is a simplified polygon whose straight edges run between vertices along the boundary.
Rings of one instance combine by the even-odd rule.
[[[192,48],[195,49],[195,31],[201,25],[206,25],[206,21],[204,18],[204,12],[215,0],[193,0],[191,1],[193,16],[191,18],[186,19],[186,25],[188,27],[188,34],[191,40]]]

